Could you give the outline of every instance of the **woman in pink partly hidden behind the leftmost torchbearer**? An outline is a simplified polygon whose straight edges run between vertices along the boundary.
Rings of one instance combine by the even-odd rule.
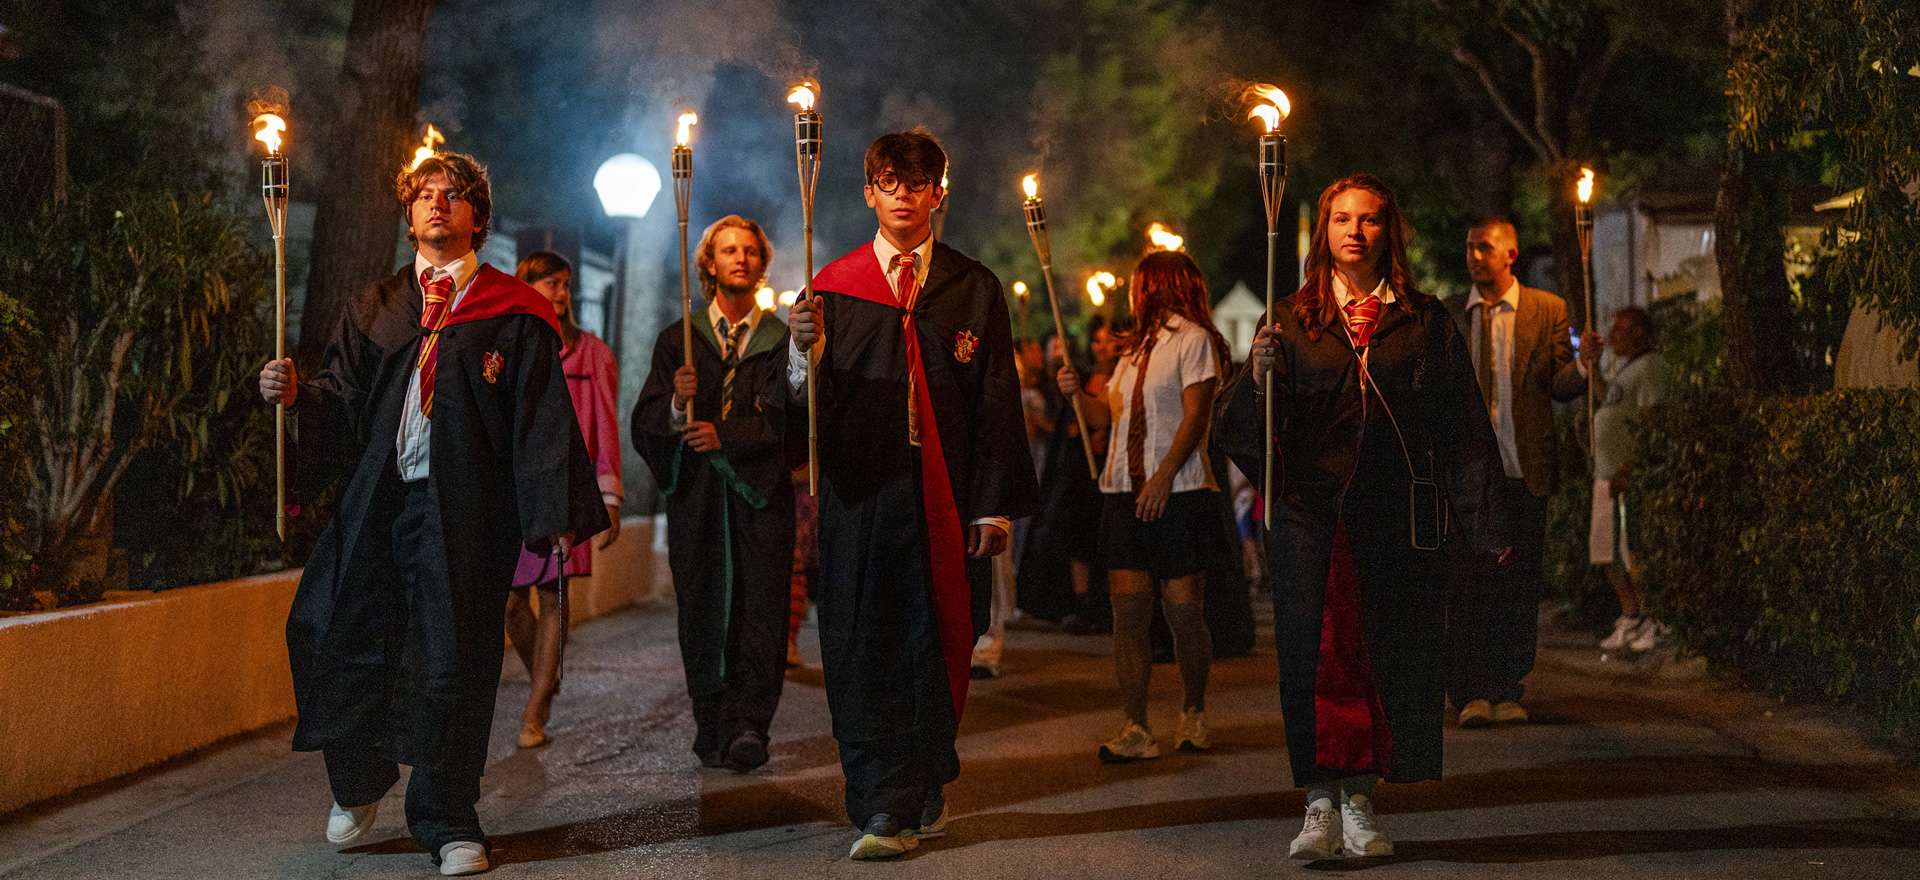
[[[614,398],[620,371],[612,350],[599,336],[586,332],[574,321],[572,277],[566,257],[549,252],[528,254],[515,271],[520,281],[547,296],[561,317],[561,367],[566,371],[566,390],[574,394],[574,413],[580,415],[580,434],[588,442],[599,477],[601,500],[612,528],[593,542],[574,548],[566,561],[566,576],[593,571],[593,550],[607,550],[620,536],[620,423],[614,419]],[[561,621],[561,574],[553,557],[520,551],[520,567],[507,594],[507,638],[513,642],[532,692],[520,717],[520,747],[547,744],[547,719],[553,715],[553,694],[561,690],[561,642],[566,626]],[[534,603],[540,603],[536,617]]]

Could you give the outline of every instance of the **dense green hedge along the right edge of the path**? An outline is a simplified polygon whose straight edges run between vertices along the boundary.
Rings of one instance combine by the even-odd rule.
[[[1703,394],[1634,455],[1634,551],[1688,651],[1920,738],[1920,392]]]

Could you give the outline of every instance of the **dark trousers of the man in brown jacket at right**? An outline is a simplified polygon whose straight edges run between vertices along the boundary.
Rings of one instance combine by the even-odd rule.
[[[1540,638],[1548,500],[1534,498],[1526,480],[1501,475],[1496,477],[1494,509],[1488,513],[1498,517],[1496,534],[1513,542],[1513,563],[1490,574],[1469,569],[1448,592],[1446,690],[1455,707],[1473,699],[1521,699],[1521,678],[1534,671]]]

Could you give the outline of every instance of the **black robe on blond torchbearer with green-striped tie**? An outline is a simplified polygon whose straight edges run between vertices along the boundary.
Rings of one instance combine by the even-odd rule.
[[[787,325],[772,313],[760,315],[733,371],[733,403],[722,419],[726,363],[705,317],[701,309],[693,319],[699,394],[691,417],[714,425],[720,448],[693,452],[672,427],[674,371],[685,363],[682,321],[653,344],[653,371],[634,403],[632,436],[666,494],[666,563],[674,573],[680,657],[699,726],[693,751],[716,757],[741,730],[766,736],[780,705],[787,674],[793,477],[785,448]]]

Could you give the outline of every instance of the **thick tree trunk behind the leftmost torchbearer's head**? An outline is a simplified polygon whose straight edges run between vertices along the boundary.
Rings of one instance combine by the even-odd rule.
[[[355,290],[394,271],[394,175],[413,142],[434,0],[355,0],[319,175],[300,359],[315,363]]]

